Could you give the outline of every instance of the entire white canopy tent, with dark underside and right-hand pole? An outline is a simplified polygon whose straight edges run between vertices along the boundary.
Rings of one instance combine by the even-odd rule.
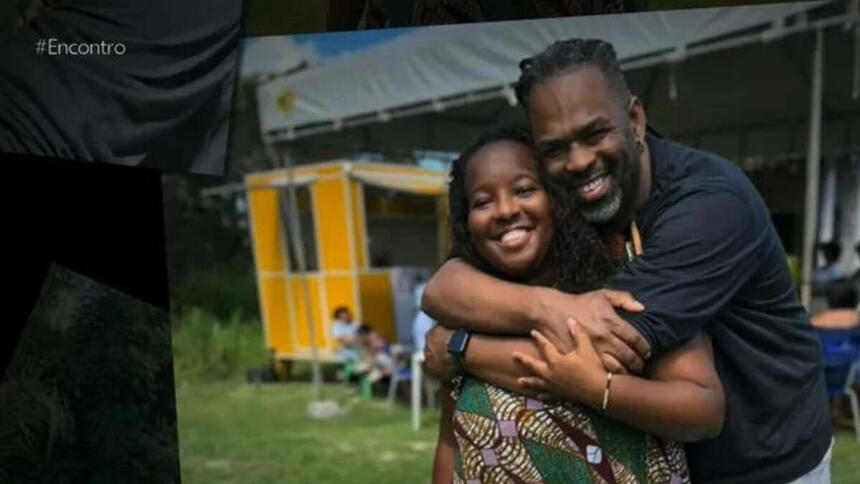
[[[822,110],[828,119],[850,118],[854,113],[841,103],[825,105],[823,77],[834,69],[847,72],[845,66],[851,65],[852,57],[844,51],[852,43],[837,39],[828,52],[838,51],[838,57],[828,57],[825,65],[824,45],[834,42],[817,35],[819,47],[812,48],[804,36],[793,34],[827,29],[828,39],[848,37],[849,33],[837,27],[856,24],[854,5],[848,9],[829,6],[823,13],[822,3],[814,2],[416,29],[363,54],[260,85],[261,134],[267,143],[352,139],[354,145],[367,145],[368,139],[391,131],[402,134],[386,140],[392,144],[456,150],[463,146],[460,139],[464,136],[452,134],[458,141],[447,145],[439,138],[463,131],[457,123],[487,126],[504,118],[522,119],[512,107],[516,101],[510,88],[519,74],[520,59],[555,40],[602,38],[615,46],[631,87],[641,88],[634,92],[645,97],[649,120],[662,121],[661,131],[664,125],[671,126],[666,131],[675,137],[680,133],[698,140],[719,137],[719,130],[727,126],[740,126],[738,157],[750,145],[756,145],[750,154],[762,151],[757,145],[773,144],[776,137],[780,138],[777,144],[788,146],[778,154],[799,158],[796,155],[803,153],[803,158],[816,161],[807,164],[806,282],[817,227],[817,161],[822,156],[822,136],[825,141],[831,136],[830,131],[822,134]],[[736,56],[739,47],[746,49]],[[729,51],[732,56],[724,54]],[[813,58],[819,62],[811,61]],[[854,62],[856,66],[856,59]],[[814,69],[816,65],[821,68]],[[762,73],[766,79],[758,78]],[[852,81],[850,75],[839,81],[841,91],[857,90],[856,74],[851,87],[844,86]],[[664,89],[655,93],[655,86]],[[727,101],[736,96],[731,90],[746,93],[744,99]],[[802,97],[798,97],[800,93]],[[694,103],[700,107],[694,115],[673,106],[675,98],[689,103],[691,97],[696,97]],[[402,121],[387,123],[392,119]],[[431,124],[419,123],[425,119]],[[440,119],[450,122],[440,126]],[[770,124],[783,119],[791,129],[766,132]],[[753,122],[758,124],[750,124]],[[850,119],[844,124],[840,131],[850,141],[856,126]],[[838,141],[828,143],[825,152],[851,144]],[[808,296],[805,286],[805,301]]]

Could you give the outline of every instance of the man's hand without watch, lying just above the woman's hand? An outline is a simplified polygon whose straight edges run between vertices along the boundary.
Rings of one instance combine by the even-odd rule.
[[[536,328],[550,339],[559,351],[568,353],[574,348],[567,319],[578,321],[588,333],[603,366],[613,373],[638,373],[650,357],[648,342],[621,318],[615,309],[641,312],[645,309],[630,293],[601,289],[584,294],[565,294],[555,289],[540,293],[541,308]]]

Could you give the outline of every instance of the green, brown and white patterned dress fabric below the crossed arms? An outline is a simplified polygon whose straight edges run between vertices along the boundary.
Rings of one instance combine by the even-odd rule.
[[[471,378],[455,383],[455,482],[689,482],[678,444],[588,408],[544,404]]]

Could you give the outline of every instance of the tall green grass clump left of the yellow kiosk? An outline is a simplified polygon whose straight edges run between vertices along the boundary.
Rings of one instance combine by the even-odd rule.
[[[259,322],[235,312],[223,321],[198,307],[174,319],[173,365],[177,380],[224,380],[268,364]]]

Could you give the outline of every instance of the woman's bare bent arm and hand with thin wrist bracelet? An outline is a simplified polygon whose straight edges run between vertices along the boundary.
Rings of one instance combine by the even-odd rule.
[[[571,332],[577,348],[560,354],[540,333],[535,333],[544,361],[517,354],[534,377],[521,383],[544,396],[601,410],[607,374],[600,366],[587,333],[575,323]],[[645,432],[678,442],[716,437],[725,417],[725,395],[714,368],[710,339],[699,334],[666,353],[648,369],[651,379],[613,375],[606,413]]]

